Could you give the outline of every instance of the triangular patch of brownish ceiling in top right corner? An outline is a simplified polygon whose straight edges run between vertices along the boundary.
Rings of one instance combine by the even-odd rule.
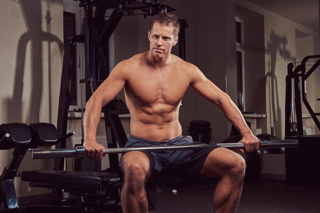
[[[319,32],[320,0],[247,0],[296,23]]]

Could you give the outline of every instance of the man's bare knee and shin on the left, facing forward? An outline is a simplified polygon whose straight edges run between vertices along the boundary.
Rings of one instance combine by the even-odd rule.
[[[128,152],[121,158],[124,184],[121,192],[124,213],[148,212],[145,184],[150,177],[150,161],[142,152]]]

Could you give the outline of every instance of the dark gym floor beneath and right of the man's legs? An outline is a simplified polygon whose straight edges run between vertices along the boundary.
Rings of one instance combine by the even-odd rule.
[[[155,210],[161,213],[211,213],[215,183],[205,187],[191,184],[178,193],[150,190]],[[320,187],[287,186],[285,180],[257,179],[244,183],[237,213],[320,212]]]

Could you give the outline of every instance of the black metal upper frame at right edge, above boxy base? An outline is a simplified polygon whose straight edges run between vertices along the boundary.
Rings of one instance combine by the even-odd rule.
[[[318,58],[318,59],[317,59]],[[316,62],[311,66],[309,70],[306,69],[306,63],[310,59],[317,59]],[[288,75],[286,76],[286,99],[285,99],[285,136],[292,135],[291,132],[291,97],[292,97],[292,79],[293,79],[293,88],[294,88],[294,104],[295,104],[295,114],[296,114],[296,123],[298,126],[298,135],[303,135],[303,124],[302,124],[302,105],[301,99],[308,109],[315,125],[320,130],[320,122],[317,116],[320,113],[316,113],[312,110],[308,100],[307,100],[307,91],[306,91],[306,82],[308,77],[314,72],[314,70],[320,65],[320,55],[313,55],[305,57],[301,64],[295,67],[293,70],[293,63],[288,64]],[[301,78],[301,86],[300,86]],[[302,97],[301,97],[302,91]]]

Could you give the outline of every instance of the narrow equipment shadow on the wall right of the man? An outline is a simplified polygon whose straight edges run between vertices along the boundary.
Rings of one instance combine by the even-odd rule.
[[[286,49],[288,44],[287,37],[285,35],[277,35],[275,31],[270,33],[270,40],[267,43],[267,53],[269,55],[269,72],[266,74],[265,81],[269,81],[269,100],[270,100],[270,123],[271,134],[282,135],[282,120],[281,120],[281,108],[279,105],[279,91],[276,75],[276,63],[281,57],[284,61],[295,61],[295,58],[291,56],[290,51]]]

